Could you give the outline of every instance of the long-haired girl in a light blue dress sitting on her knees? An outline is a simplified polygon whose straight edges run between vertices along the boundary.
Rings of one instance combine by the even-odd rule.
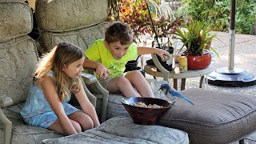
[[[34,82],[21,114],[30,126],[41,126],[59,134],[77,134],[99,125],[94,106],[82,86],[80,73],[85,56],[73,44],[62,42],[39,61]],[[69,103],[70,92],[82,111]]]

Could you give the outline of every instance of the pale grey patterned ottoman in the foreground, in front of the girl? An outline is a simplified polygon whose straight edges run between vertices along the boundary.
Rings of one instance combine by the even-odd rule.
[[[164,126],[148,126],[134,124],[128,117],[110,118],[97,128],[62,138],[49,138],[42,143],[58,144],[105,144],[105,143],[168,143],[189,144],[188,134]]]

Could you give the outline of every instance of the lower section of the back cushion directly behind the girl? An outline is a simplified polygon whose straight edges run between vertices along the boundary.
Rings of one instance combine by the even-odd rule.
[[[32,83],[31,74],[38,62],[34,40],[24,35],[0,43],[0,50],[0,94],[10,97],[14,104],[23,102]]]

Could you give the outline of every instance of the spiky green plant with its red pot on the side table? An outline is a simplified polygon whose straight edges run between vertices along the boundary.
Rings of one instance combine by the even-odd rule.
[[[184,50],[182,55],[187,58],[188,69],[205,69],[211,62],[210,50],[218,56],[213,47],[210,46],[210,50],[206,50],[206,46],[210,45],[210,42],[216,38],[216,34],[210,34],[203,22],[196,20],[190,20],[185,27],[186,30],[178,27],[174,33],[176,38],[182,42],[182,48],[177,53]]]

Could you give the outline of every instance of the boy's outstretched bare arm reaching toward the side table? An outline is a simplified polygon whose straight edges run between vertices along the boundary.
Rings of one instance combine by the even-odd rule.
[[[167,55],[170,58],[170,54],[166,50],[154,48],[154,47],[146,47],[146,46],[138,46],[138,55],[144,54],[158,54],[162,60],[164,60],[163,55]]]

